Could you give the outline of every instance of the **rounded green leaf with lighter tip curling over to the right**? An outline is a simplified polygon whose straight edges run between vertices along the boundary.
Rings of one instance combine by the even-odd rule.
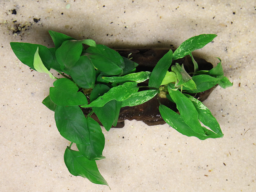
[[[56,59],[60,65],[65,66],[69,71],[78,61],[83,50],[83,45],[96,46],[95,41],[91,39],[84,40],[66,40],[56,50]]]

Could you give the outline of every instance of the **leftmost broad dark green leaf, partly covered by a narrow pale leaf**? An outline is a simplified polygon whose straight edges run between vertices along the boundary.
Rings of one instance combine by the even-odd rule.
[[[54,62],[51,51],[43,45],[22,42],[10,42],[10,46],[17,58],[31,69],[36,70],[34,68],[33,62],[37,47],[39,47],[40,58],[42,59],[44,66],[48,70],[50,70],[50,66]]]

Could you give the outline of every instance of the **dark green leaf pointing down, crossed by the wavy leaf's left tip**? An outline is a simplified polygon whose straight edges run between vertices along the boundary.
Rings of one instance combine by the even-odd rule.
[[[98,97],[101,97],[104,93],[108,92],[110,88],[104,84],[98,84],[94,87],[90,95],[90,102],[94,101]],[[109,131],[112,125],[116,125],[119,112],[121,109],[121,102],[111,100],[102,107],[92,107],[93,112],[97,115],[104,128]]]

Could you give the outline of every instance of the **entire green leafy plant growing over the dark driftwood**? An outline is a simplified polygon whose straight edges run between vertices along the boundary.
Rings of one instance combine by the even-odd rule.
[[[142,104],[156,95],[158,97],[160,92],[176,103],[179,110],[178,114],[159,102],[162,118],[175,130],[200,140],[223,137],[219,123],[209,109],[190,96],[216,84],[222,88],[232,86],[224,76],[219,58],[216,67],[198,71],[197,62],[191,54],[217,35],[191,37],[174,52],[169,50],[152,72],[136,72],[137,63],[105,45],[98,45],[91,39],[76,40],[55,31],[49,33],[54,48],[23,42],[10,42],[10,45],[21,62],[55,80],[54,87],[50,87],[49,95],[42,103],[55,112],[58,131],[71,142],[64,153],[64,161],[72,175],[88,178],[95,184],[108,185],[95,162],[105,158],[102,155],[105,139],[99,123],[90,117],[91,114],[95,113],[109,131],[112,125],[116,125],[122,107]],[[173,60],[186,55],[191,56],[194,64],[192,74],[185,71],[183,64],[171,66]],[[168,71],[170,66],[171,71]],[[50,69],[65,78],[55,77]],[[147,79],[148,86],[140,91],[137,84]],[[81,108],[91,109],[87,117]],[[71,149],[73,143],[79,151]]]

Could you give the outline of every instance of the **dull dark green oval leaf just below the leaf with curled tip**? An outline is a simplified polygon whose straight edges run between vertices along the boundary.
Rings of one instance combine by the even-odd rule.
[[[89,89],[94,87],[95,69],[91,60],[86,56],[80,56],[74,67],[70,69],[72,79],[80,87]]]

